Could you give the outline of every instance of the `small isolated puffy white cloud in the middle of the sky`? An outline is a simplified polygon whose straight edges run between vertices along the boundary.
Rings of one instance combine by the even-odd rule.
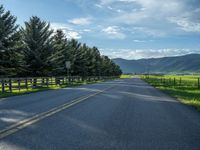
[[[104,33],[110,39],[125,39],[126,35],[121,33],[120,28],[118,26],[109,26],[107,28],[102,29]]]

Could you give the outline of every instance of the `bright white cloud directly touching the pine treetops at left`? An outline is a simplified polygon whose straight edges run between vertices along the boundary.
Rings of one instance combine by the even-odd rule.
[[[82,36],[78,31],[73,30],[69,25],[64,23],[51,23],[51,28],[54,30],[63,30],[68,39],[81,39]]]

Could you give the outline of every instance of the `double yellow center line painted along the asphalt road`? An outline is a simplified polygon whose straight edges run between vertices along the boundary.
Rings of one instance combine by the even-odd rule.
[[[31,118],[24,119],[24,120],[14,124],[14,125],[11,125],[11,126],[5,128],[3,130],[0,130],[0,139],[5,138],[5,137],[7,137],[11,134],[14,134],[14,133],[16,133],[16,132],[36,123],[36,122],[39,122],[39,121],[41,121],[41,120],[43,120],[47,117],[50,117],[50,116],[52,116],[56,113],[59,113],[59,112],[65,110],[67,108],[70,108],[71,106],[74,106],[74,105],[76,105],[76,104],[78,104],[82,101],[85,101],[88,98],[94,97],[95,95],[103,93],[103,92],[105,92],[105,91],[107,91],[111,88],[113,88],[113,86],[106,88],[104,90],[98,91],[98,92],[93,93],[93,94],[89,94],[89,95],[86,95],[86,96],[79,97],[79,98],[74,99],[70,102],[67,102],[67,103],[62,104],[62,105],[57,106],[57,107],[54,107],[54,108],[50,109],[49,111],[46,111],[46,112],[43,112],[43,113],[40,113],[40,114],[36,114]]]

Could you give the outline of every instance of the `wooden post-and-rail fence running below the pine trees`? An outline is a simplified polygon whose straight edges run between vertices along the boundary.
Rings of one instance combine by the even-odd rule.
[[[28,78],[0,78],[0,92],[13,92],[13,90],[28,90],[39,87],[63,86],[83,81],[98,81],[113,79],[116,77],[107,76],[70,76],[70,77],[28,77]]]

